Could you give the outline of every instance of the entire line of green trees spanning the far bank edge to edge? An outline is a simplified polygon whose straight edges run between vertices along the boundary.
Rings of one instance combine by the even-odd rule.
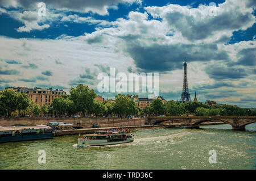
[[[255,116],[255,111],[248,108],[237,106],[209,106],[200,102],[179,103],[174,100],[163,103],[161,99],[155,99],[150,106],[141,110],[137,107],[133,99],[127,98],[123,94],[115,96],[115,102],[96,100],[96,93],[93,89],[82,84],[76,88],[71,87],[70,95],[61,95],[52,100],[51,105],[39,106],[28,98],[28,95],[5,90],[0,92],[0,116],[10,117],[16,115],[38,116],[75,116],[78,113],[85,116],[113,116],[124,117],[127,115],[135,116],[181,116],[193,114],[198,116],[205,115],[237,115]]]

